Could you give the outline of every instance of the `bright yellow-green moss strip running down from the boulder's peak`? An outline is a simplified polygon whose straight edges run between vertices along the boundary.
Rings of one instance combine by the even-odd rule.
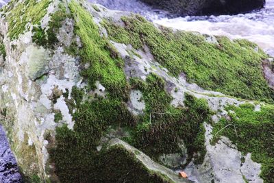
[[[123,60],[112,57],[112,49],[107,38],[101,37],[99,27],[92,20],[92,16],[77,2],[69,4],[75,22],[75,33],[81,38],[82,49],[80,56],[83,64],[90,64],[82,71],[90,88],[95,88],[95,81],[100,80],[110,92],[110,95],[121,97],[127,93],[127,82],[123,73]],[[127,96],[123,96],[124,98]]]

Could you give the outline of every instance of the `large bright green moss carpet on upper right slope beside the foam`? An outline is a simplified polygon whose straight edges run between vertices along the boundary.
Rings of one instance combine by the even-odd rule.
[[[103,21],[110,38],[136,49],[147,45],[155,60],[173,75],[184,72],[188,82],[207,90],[273,102],[274,91],[264,80],[261,69],[266,54],[261,50],[256,53],[255,44],[247,40],[232,42],[219,36],[219,44],[214,45],[199,34],[173,32],[164,27],[159,30],[138,15],[123,17],[122,21],[124,26]]]

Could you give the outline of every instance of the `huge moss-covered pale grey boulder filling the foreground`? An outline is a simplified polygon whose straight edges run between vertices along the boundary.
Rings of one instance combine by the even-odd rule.
[[[231,136],[229,110],[273,107],[262,67],[269,58],[252,42],[179,32],[77,0],[14,0],[0,17],[0,119],[25,182],[186,182],[169,168],[190,165],[197,179],[225,181],[211,157],[220,154],[234,175],[241,151],[252,154],[251,169],[234,182],[273,179],[273,154],[246,148],[253,138],[226,146],[229,156],[212,151],[221,134],[232,143],[249,138]],[[245,132],[241,121],[231,126]],[[271,139],[262,143],[268,152]],[[166,155],[184,161],[171,166]]]

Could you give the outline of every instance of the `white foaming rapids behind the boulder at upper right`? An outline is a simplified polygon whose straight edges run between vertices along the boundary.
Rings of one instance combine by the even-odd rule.
[[[176,19],[155,19],[154,23],[232,39],[245,38],[256,42],[266,53],[274,56],[274,0],[266,0],[266,7],[249,14],[233,16],[186,16]]]

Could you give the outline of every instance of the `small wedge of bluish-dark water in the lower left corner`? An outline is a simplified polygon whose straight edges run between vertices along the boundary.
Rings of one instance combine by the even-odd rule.
[[[16,160],[8,139],[5,136],[3,127],[0,125],[0,182],[1,183],[16,183],[22,182]]]

